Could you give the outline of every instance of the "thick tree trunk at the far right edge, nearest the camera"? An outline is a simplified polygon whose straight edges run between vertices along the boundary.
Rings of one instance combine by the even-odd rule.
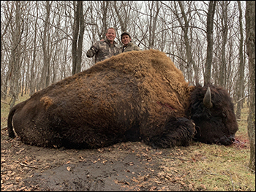
[[[249,60],[250,97],[248,136],[250,142],[249,168],[255,171],[255,1],[246,1],[246,53]]]

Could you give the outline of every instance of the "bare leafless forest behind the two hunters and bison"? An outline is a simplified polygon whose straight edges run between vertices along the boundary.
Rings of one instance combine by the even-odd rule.
[[[170,56],[187,81],[227,89],[239,119],[252,92],[255,104],[245,14],[246,1],[1,1],[1,101],[12,98],[12,107],[19,94],[89,69],[86,51],[114,27],[119,45],[129,31],[141,50]]]

